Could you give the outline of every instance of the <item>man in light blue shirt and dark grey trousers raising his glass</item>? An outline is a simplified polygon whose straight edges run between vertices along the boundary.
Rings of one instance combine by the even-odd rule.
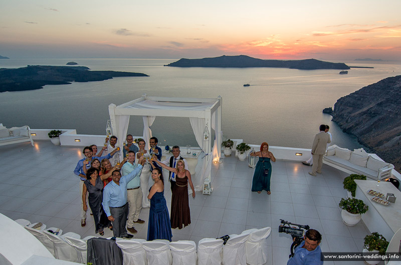
[[[139,158],[138,163],[139,165],[128,175],[121,176],[119,170],[114,170],[111,174],[113,181],[109,182],[103,189],[102,205],[107,218],[113,223],[115,237],[133,237],[132,234],[127,233],[125,228],[128,215],[127,184],[142,171],[143,157]]]

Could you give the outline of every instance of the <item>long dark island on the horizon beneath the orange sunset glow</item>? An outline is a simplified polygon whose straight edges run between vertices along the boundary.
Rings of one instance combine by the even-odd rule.
[[[179,59],[164,66],[176,67],[280,67],[292,69],[349,69],[349,66],[342,62],[328,62],[316,59],[305,60],[264,60],[253,58],[247,55],[235,55],[203,59]]]

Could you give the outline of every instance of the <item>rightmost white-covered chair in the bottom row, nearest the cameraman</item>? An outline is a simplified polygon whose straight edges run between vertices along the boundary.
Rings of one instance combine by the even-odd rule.
[[[262,265],[267,262],[267,238],[269,237],[272,228],[265,227],[252,230],[254,231],[251,231],[248,240],[245,242],[247,263],[250,265]]]

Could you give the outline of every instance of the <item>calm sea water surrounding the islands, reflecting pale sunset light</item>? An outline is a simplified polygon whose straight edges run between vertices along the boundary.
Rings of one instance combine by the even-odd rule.
[[[116,77],[96,82],[46,85],[43,89],[0,93],[0,123],[31,128],[76,129],[79,134],[105,134],[108,105],[141,97],[222,96],[222,130],[225,138],[247,143],[310,148],[319,125],[329,124],[333,144],[361,147],[355,137],[322,113],[338,98],[385,77],[401,74],[401,64],[346,62],[340,70],[288,68],[203,68],[163,66],[176,59],[1,59],[0,67],[65,65],[76,61],[92,70],[142,72],[149,77]],[[244,87],[243,84],[250,86]],[[196,146],[188,118],[156,117],[153,135],[162,145]],[[128,132],[142,135],[142,118],[130,117]]]

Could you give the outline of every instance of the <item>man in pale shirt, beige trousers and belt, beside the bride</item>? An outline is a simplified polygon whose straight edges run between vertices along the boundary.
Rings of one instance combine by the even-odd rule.
[[[139,164],[134,163],[135,152],[128,151],[128,161],[124,163],[121,168],[121,173],[123,175],[128,175],[133,170],[135,170]],[[143,160],[145,162],[145,160]],[[143,165],[143,164],[142,164]],[[140,170],[136,176],[128,182],[127,184],[127,199],[128,199],[128,220],[127,220],[127,230],[131,233],[137,233],[138,231],[134,227],[134,222],[144,223],[144,220],[139,219],[139,213],[142,209],[142,189],[140,175],[142,170]]]

